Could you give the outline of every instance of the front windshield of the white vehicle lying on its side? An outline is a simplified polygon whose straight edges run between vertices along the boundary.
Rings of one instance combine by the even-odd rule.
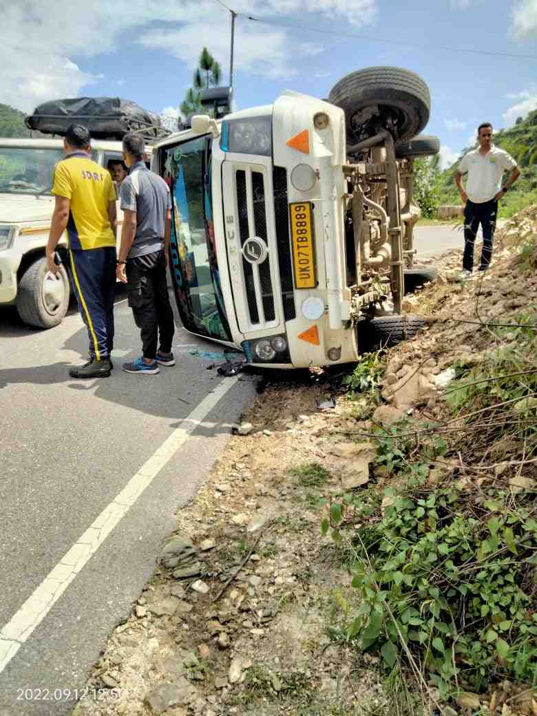
[[[208,137],[166,147],[164,179],[173,198],[170,248],[181,320],[193,333],[231,341],[216,258]]]

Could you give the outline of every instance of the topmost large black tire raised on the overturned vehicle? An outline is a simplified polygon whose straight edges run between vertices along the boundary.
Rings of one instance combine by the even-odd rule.
[[[355,115],[366,107],[376,105],[381,112],[384,108],[395,112],[397,142],[411,139],[424,129],[431,107],[427,84],[414,72],[400,67],[368,67],[351,72],[334,84],[329,101],[345,112],[349,145],[364,138],[355,132]],[[368,133],[372,136],[373,128]]]

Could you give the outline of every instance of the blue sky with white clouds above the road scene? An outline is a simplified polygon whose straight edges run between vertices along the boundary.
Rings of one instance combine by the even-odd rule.
[[[480,122],[509,127],[537,108],[537,0],[222,1],[238,13],[239,109],[282,89],[327,97],[355,69],[405,67],[430,88],[424,133],[440,137],[446,166]],[[203,45],[228,84],[221,0],[0,0],[0,11],[0,102],[25,112],[59,97],[119,96],[175,117]]]

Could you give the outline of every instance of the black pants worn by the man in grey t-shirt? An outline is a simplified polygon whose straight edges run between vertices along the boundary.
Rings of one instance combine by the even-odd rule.
[[[168,297],[164,251],[129,258],[125,266],[129,306],[142,336],[144,358],[154,359],[160,350],[169,353],[175,332]]]

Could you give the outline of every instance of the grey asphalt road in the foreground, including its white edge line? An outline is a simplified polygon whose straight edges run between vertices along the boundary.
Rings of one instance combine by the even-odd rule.
[[[222,379],[195,348],[221,350],[178,329],[177,366],[122,372],[140,338],[120,292],[112,377],[75,381],[74,309],[49,331],[0,311],[1,716],[69,713],[253,397],[253,377]]]

